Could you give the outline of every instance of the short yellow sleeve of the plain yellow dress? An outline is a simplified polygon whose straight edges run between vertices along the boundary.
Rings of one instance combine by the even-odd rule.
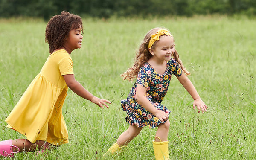
[[[65,57],[59,62],[59,69],[61,72],[61,76],[67,74],[74,74],[73,71],[73,61],[71,57]]]

